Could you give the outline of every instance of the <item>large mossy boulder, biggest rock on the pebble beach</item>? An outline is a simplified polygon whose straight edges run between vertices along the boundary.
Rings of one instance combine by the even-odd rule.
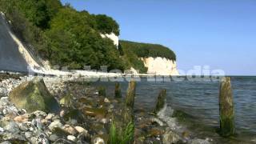
[[[30,82],[23,82],[10,92],[10,102],[31,113],[42,110],[58,113],[60,110],[57,100],[47,90],[42,79],[34,78]]]

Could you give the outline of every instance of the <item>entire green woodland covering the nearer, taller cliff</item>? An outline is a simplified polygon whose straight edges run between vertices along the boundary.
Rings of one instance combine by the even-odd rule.
[[[0,0],[0,10],[12,22],[19,38],[51,65],[82,69],[124,70],[119,52],[102,34],[119,34],[119,26],[106,15],[78,12],[59,0]]]

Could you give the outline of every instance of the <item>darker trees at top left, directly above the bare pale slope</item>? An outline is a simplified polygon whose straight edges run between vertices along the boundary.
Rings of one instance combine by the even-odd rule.
[[[46,58],[47,42],[43,30],[49,27],[50,18],[58,12],[61,3],[55,0],[0,0],[0,10],[6,14],[12,29],[27,44],[30,51]]]

